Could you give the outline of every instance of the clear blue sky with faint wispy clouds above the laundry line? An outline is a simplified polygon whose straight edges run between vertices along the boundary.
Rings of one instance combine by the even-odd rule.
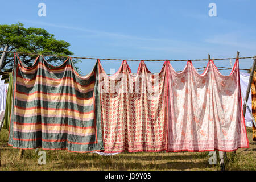
[[[38,4],[46,4],[46,17],[38,16]],[[210,17],[209,3],[216,3],[217,16]],[[21,22],[25,27],[44,28],[71,44],[76,56],[120,59],[207,59],[256,55],[256,1],[2,1],[0,24]],[[86,74],[95,60],[82,60]],[[118,70],[121,61],[101,61],[105,71]],[[138,61],[128,62],[137,72]],[[215,61],[230,67],[228,60]],[[252,59],[241,59],[240,68],[250,68]],[[176,71],[185,62],[172,62]],[[207,61],[194,61],[196,68]],[[234,64],[234,60],[233,60]],[[162,62],[146,62],[159,72]],[[230,71],[221,71],[229,75]]]

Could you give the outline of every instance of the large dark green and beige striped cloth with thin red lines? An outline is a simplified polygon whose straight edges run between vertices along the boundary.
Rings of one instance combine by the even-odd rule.
[[[38,56],[27,67],[15,55],[9,145],[72,152],[104,150],[97,74],[98,61],[88,76],[80,77],[70,58],[53,67]]]

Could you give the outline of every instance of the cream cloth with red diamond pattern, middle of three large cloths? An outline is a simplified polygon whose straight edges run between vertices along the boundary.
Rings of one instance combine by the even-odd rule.
[[[99,73],[104,152],[166,150],[166,63],[159,74],[151,74],[144,61],[136,75],[126,61],[113,76],[101,64]]]

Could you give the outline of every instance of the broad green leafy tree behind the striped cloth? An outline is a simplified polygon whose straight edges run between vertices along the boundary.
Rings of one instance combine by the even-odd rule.
[[[64,40],[57,40],[53,34],[49,34],[43,28],[25,28],[22,23],[0,25],[0,50],[26,53],[38,53],[42,55],[70,56],[73,52],[68,50],[70,44]],[[37,55],[19,55],[28,66],[32,65]],[[60,65],[67,58],[45,56],[49,64]],[[7,53],[0,65],[1,72],[10,72],[13,69],[13,53]],[[76,64],[80,60],[72,59]],[[76,67],[77,71],[80,71]]]

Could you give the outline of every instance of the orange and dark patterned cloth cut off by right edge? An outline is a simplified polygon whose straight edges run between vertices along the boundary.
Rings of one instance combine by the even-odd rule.
[[[253,73],[253,82],[251,82],[251,106],[253,108],[253,117],[256,119],[256,72]],[[256,141],[256,126],[253,123],[253,141]]]

